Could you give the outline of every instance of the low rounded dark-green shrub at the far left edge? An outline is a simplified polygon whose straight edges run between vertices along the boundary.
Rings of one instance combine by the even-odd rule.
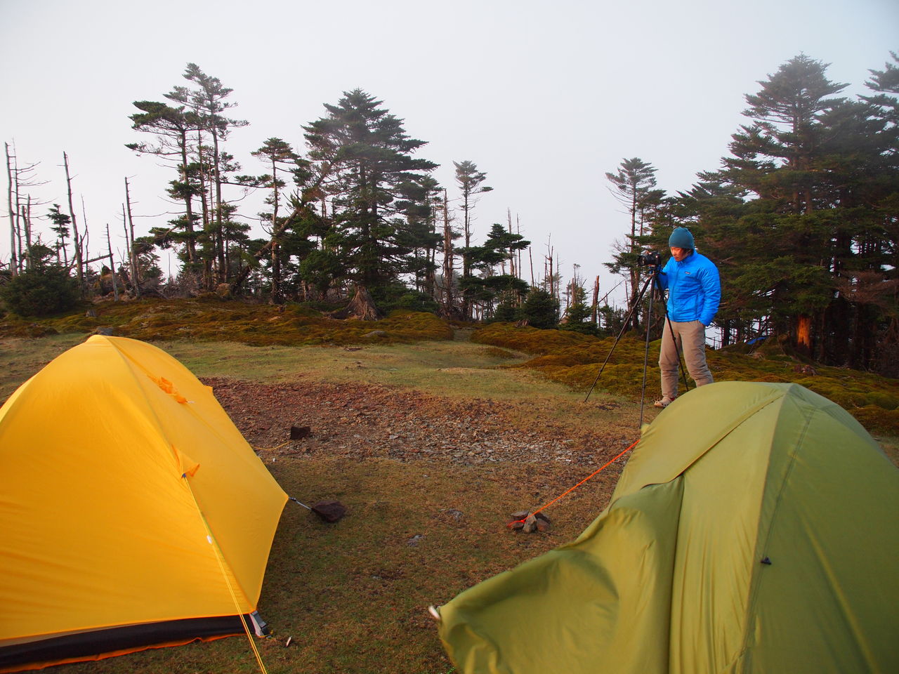
[[[46,316],[73,308],[78,287],[66,269],[52,264],[22,271],[0,288],[0,297],[13,314]]]

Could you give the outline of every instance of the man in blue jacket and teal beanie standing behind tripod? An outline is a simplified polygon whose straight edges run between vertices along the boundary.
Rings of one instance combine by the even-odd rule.
[[[659,354],[662,399],[655,402],[656,407],[667,407],[677,397],[679,351],[696,386],[714,381],[706,363],[706,328],[721,301],[718,269],[708,257],[697,253],[690,230],[675,228],[668,246],[672,257],[658,277],[659,286],[668,290],[668,316]]]

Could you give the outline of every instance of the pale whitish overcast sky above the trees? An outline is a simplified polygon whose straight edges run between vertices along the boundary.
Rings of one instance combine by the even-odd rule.
[[[494,191],[476,207],[476,244],[510,208],[538,279],[551,244],[566,279],[579,264],[588,291],[599,274],[605,293],[618,279],[602,262],[628,230],[606,172],[636,156],[660,188],[687,190],[728,154],[747,121],[743,95],[789,58],[832,64],[830,79],[854,96],[891,49],[895,0],[0,0],[0,139],[14,142],[20,165],[40,163],[39,215],[53,202],[67,211],[65,150],[91,253],[105,250],[107,223],[122,251],[125,176],[138,235],[179,208],[165,198],[174,169],[124,147],[152,139],[130,129],[131,103],[189,84],[188,62],[232,88],[231,116],[250,121],[225,146],[240,173],[265,173],[250,152],[268,137],[302,151],[301,126],[360,87],[427,141],[416,156],[441,164],[434,176],[450,198],[453,161],[487,173]],[[260,202],[239,213],[256,221]],[[527,266],[522,276],[530,281]]]

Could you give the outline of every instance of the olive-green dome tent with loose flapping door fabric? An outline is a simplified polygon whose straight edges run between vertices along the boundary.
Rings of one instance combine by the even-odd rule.
[[[802,386],[722,382],[645,430],[573,543],[441,607],[466,674],[899,672],[899,470]]]

